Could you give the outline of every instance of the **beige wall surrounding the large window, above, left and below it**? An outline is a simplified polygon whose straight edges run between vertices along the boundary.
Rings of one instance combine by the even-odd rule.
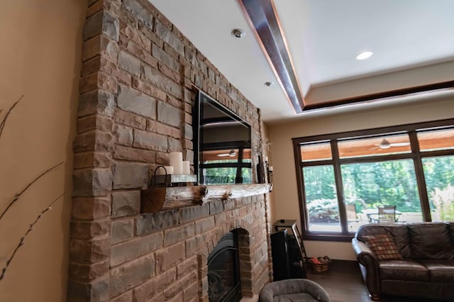
[[[292,138],[453,117],[454,99],[444,97],[418,101],[413,105],[401,104],[389,108],[331,114],[326,117],[304,118],[292,123],[270,125],[274,166],[272,221],[282,218],[300,220]],[[355,259],[349,242],[307,241],[305,244],[308,256],[311,257],[328,255],[332,259]]]

